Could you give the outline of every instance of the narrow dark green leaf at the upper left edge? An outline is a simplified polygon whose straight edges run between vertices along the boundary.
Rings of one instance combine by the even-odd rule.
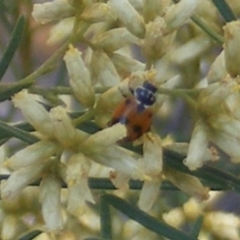
[[[0,80],[5,74],[24,34],[25,28],[25,18],[23,16],[19,17],[16,26],[13,30],[10,42],[3,53],[3,57],[0,61]]]

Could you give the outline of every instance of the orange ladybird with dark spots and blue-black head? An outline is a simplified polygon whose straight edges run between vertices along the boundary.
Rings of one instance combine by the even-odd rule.
[[[151,107],[155,101],[157,88],[149,81],[131,89],[132,97],[127,97],[115,109],[108,126],[122,123],[127,128],[127,136],[122,141],[134,141],[148,132],[152,122]]]

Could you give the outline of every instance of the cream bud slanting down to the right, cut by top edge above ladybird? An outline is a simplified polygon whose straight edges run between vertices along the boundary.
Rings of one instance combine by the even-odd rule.
[[[118,18],[129,32],[139,38],[144,37],[145,26],[143,19],[128,0],[109,0],[109,4],[116,11]]]

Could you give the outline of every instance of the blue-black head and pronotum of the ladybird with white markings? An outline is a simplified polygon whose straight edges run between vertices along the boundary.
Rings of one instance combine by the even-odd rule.
[[[137,87],[133,94],[136,97],[136,100],[144,108],[152,106],[156,101],[155,93],[157,88],[152,85],[150,82],[145,81],[142,86]]]

